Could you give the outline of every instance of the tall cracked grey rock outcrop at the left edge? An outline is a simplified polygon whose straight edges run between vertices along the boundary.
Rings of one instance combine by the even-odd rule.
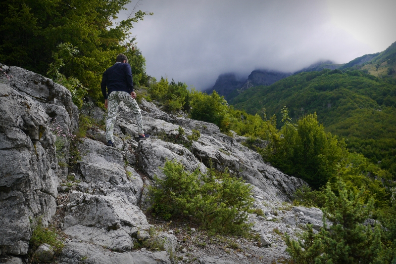
[[[0,67],[0,252],[25,255],[32,223],[48,225],[67,175],[58,166],[51,126],[75,130],[78,111],[70,92],[52,80]]]

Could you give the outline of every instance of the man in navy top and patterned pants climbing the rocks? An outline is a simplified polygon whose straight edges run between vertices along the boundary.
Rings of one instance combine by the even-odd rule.
[[[107,146],[114,147],[114,124],[117,117],[118,105],[121,101],[135,114],[138,121],[139,139],[146,139],[150,135],[143,130],[142,114],[136,102],[133,90],[131,65],[124,54],[118,54],[116,63],[108,68],[102,77],[100,85],[104,97],[104,107],[107,108],[106,141]],[[106,91],[107,87],[107,91]],[[108,96],[107,96],[108,94]]]

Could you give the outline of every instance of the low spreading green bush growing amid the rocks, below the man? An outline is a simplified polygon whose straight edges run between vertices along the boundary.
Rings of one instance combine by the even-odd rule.
[[[227,172],[186,172],[177,161],[166,161],[166,178],[150,187],[152,210],[169,219],[188,219],[213,232],[243,234],[253,199],[249,185]]]

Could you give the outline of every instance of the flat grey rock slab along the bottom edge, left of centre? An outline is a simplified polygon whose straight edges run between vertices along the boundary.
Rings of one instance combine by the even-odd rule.
[[[68,241],[62,251],[60,263],[74,262],[86,264],[171,264],[165,251],[113,253],[94,245]]]

